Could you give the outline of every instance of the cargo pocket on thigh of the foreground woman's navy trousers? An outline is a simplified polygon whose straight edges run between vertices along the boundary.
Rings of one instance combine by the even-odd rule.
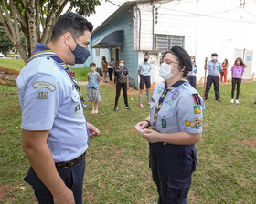
[[[186,199],[191,179],[178,180],[168,177],[166,197],[169,199]]]

